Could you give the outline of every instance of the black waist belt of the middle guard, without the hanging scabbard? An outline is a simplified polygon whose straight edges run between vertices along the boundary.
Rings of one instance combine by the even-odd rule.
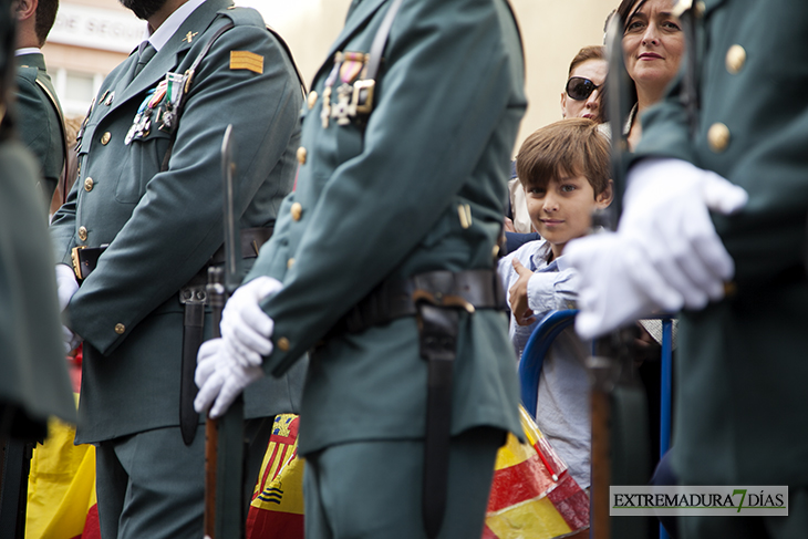
[[[505,291],[495,270],[428,271],[408,279],[382,282],[336,323],[333,334],[361,333],[402,317],[417,314],[417,302],[438,307],[475,309],[506,308]]]

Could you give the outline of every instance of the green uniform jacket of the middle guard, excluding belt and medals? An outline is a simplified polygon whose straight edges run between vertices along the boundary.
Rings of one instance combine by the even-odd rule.
[[[318,70],[302,111],[297,190],[248,276],[283,282],[262,305],[274,320],[267,372],[279,375],[312,350],[301,405],[303,454],[346,440],[424,436],[427,369],[415,318],[327,339],[351,307],[389,278],[495,268],[526,107],[514,19],[504,0],[405,1],[366,126],[335,117],[323,126],[335,53],[367,53],[391,3],[354,2]],[[339,86],[359,72],[344,65],[331,110]],[[454,434],[479,425],[519,429],[507,324],[495,310],[460,315]]]

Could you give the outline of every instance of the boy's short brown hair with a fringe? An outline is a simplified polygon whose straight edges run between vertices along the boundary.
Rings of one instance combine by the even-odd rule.
[[[598,196],[609,186],[610,143],[589,118],[568,118],[527,137],[516,156],[516,174],[526,188],[550,179],[581,175]]]

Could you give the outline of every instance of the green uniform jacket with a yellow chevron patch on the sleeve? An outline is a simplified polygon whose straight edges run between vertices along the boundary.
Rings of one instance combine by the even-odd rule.
[[[148,92],[167,72],[185,73],[230,22],[235,28],[196,70],[162,172],[170,129],[155,120],[126,144],[138,107],[147,106]],[[73,247],[110,245],[68,309],[70,326],[84,339],[80,443],[179,424],[179,290],[222,243],[227,125],[234,125],[242,228],[273,225],[294,178],[302,93],[258,12],[207,0],[130,82],[136,62],[134,53],[102,84],[80,141],[79,178],[51,227],[62,263],[71,262]],[[163,111],[165,99],[157,105]],[[210,325],[208,313],[208,336]],[[292,373],[297,382],[267,379],[251,387],[247,416],[296,411],[303,370]]]

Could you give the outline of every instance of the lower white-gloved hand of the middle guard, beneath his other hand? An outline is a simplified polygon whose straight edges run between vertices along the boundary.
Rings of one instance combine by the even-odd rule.
[[[242,366],[228,354],[222,339],[211,339],[199,346],[194,382],[199,387],[194,410],[208,411],[208,417],[221,416],[245,387],[263,376],[260,366]]]

